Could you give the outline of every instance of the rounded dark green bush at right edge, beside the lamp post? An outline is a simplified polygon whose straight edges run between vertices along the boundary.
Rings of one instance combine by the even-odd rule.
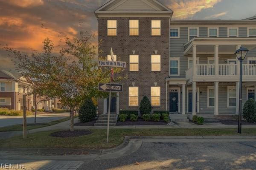
[[[246,122],[256,122],[256,102],[253,99],[248,99],[244,103],[243,117]]]

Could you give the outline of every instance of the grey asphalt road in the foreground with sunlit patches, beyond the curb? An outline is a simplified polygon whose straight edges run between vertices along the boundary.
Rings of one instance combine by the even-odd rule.
[[[138,164],[136,164],[138,162]],[[143,142],[134,153],[79,170],[255,170],[256,142]]]

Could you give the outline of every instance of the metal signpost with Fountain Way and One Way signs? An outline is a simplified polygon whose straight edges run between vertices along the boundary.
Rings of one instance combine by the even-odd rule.
[[[110,107],[111,107],[111,91],[112,92],[122,92],[122,85],[119,84],[111,84],[113,82],[114,71],[113,67],[125,68],[126,62],[114,61],[114,54],[111,48],[111,61],[99,61],[98,66],[102,67],[110,67],[111,75],[110,75],[110,84],[107,83],[99,83],[99,91],[109,91],[109,102],[108,102],[108,129],[107,129],[107,142],[109,136],[109,119],[110,119]]]

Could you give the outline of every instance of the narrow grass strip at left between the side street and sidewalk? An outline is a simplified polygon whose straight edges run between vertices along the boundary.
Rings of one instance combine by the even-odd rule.
[[[76,118],[76,117],[77,116],[74,116],[74,118]],[[27,129],[31,130],[31,129],[37,129],[37,128],[41,128],[41,127],[51,126],[51,125],[55,125],[57,123],[65,122],[67,120],[70,120],[70,117],[54,120],[54,121],[48,122],[48,123],[38,123],[38,124],[31,123],[31,124],[27,124],[28,125]],[[23,124],[0,127],[0,132],[20,131],[20,130],[23,130]]]

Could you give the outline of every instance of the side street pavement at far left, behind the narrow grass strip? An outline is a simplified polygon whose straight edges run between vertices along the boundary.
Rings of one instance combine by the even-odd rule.
[[[37,123],[52,122],[54,120],[63,119],[69,116],[69,113],[58,113],[49,115],[38,115]],[[34,123],[34,116],[27,117],[27,123]],[[0,116],[0,127],[22,124],[23,118],[21,116]]]

